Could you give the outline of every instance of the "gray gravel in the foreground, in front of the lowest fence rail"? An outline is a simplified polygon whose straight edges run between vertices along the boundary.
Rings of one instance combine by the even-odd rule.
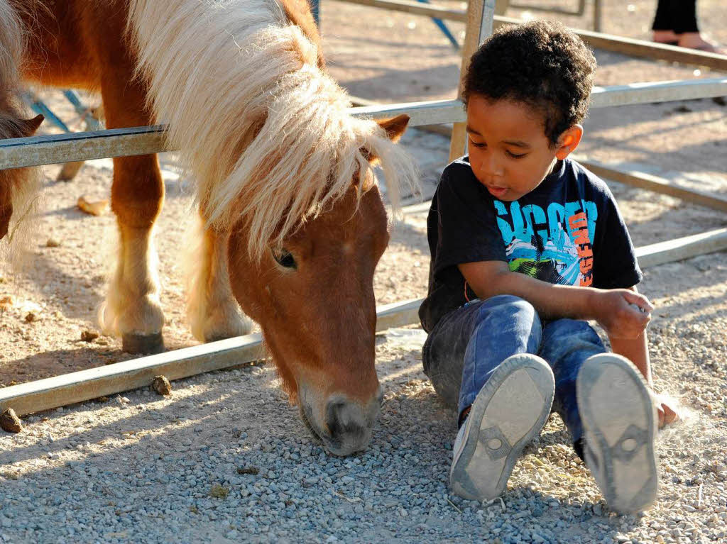
[[[671,340],[675,326],[656,326],[654,355],[694,362],[684,390],[692,411],[660,438],[659,501],[640,516],[609,513],[557,415],[502,500],[450,496],[454,416],[420,370],[424,334],[403,328],[378,336],[382,416],[369,450],[350,458],[310,441],[269,365],[179,381],[171,397],[137,390],[27,418],[25,431],[0,438],[0,540],[718,542],[727,537],[726,369],[710,352],[723,353],[724,338],[685,350]],[[660,373],[678,367],[668,366]]]

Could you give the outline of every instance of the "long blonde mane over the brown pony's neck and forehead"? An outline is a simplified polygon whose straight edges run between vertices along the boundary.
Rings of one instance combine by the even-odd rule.
[[[172,4],[173,7],[170,7]],[[416,184],[406,153],[318,68],[318,50],[275,0],[132,0],[129,29],[150,105],[193,171],[211,227],[244,219],[260,259],[350,190]]]

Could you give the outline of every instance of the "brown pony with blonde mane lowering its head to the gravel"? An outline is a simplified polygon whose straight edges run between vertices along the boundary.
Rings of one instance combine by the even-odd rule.
[[[387,194],[417,184],[395,142],[409,118],[354,118],[305,0],[0,0],[2,76],[100,91],[108,128],[169,124],[193,173],[201,238],[188,316],[201,341],[260,324],[281,385],[334,455],[363,450],[382,391],[373,275]],[[31,134],[0,102],[12,126]],[[0,182],[2,217],[20,209]],[[156,155],[113,159],[118,265],[99,311],[127,352],[164,349],[153,226]]]

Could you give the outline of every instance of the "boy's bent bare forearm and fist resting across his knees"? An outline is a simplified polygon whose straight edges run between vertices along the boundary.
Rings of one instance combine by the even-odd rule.
[[[520,272],[511,272],[505,261],[458,264],[459,272],[480,299],[514,295],[532,304],[546,319],[569,317],[596,320],[609,338],[642,336],[653,306],[645,296],[628,289],[596,289],[555,285]],[[640,312],[631,304],[646,310]]]

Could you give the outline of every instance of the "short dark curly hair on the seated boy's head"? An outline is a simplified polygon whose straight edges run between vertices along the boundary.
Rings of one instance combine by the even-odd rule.
[[[534,21],[500,28],[470,60],[462,98],[525,102],[541,112],[551,145],[585,118],[596,62],[581,38],[561,23]]]

